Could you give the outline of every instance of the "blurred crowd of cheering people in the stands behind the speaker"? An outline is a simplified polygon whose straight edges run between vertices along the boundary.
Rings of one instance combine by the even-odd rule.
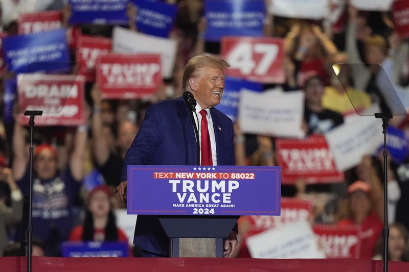
[[[273,0],[274,1],[274,0]],[[24,3],[25,1],[17,1]],[[45,4],[47,2],[47,5]],[[111,37],[112,26],[68,23],[69,6],[63,1],[39,1],[41,10],[62,10],[62,24],[67,30],[79,28],[84,35]],[[104,100],[95,82],[85,86],[86,124],[78,127],[38,127],[34,135],[33,235],[39,255],[61,256],[63,241],[127,241],[117,226],[113,211],[124,208],[114,195],[120,182],[123,161],[151,104],[182,94],[182,74],[187,61],[201,54],[219,55],[220,42],[205,39],[207,21],[200,0],[167,0],[178,7],[169,38],[178,41],[171,78],[150,99]],[[20,4],[21,4],[20,3]],[[1,1],[2,26],[7,36],[17,35],[19,4]],[[269,5],[269,1],[266,1]],[[39,11],[39,7],[32,11]],[[134,19],[138,7],[127,9],[131,31],[138,31]],[[343,19],[307,20],[266,15],[264,35],[282,38],[285,60],[284,91],[303,90],[305,94],[302,129],[306,136],[323,134],[342,125],[355,110],[365,110],[381,99],[382,86],[377,75],[382,66],[393,84],[409,83],[409,45],[399,38],[391,12],[359,11],[348,1]],[[132,23],[133,22],[133,23]],[[71,56],[75,58],[73,50]],[[335,63],[342,66],[336,77]],[[370,63],[369,65],[365,63]],[[380,65],[379,65],[380,64]],[[4,82],[15,77],[7,67]],[[269,89],[271,84],[264,84]],[[350,98],[357,103],[351,104]],[[2,116],[3,117],[3,116]],[[12,122],[2,118],[0,127],[0,256],[19,254],[16,244],[22,239],[22,195],[29,192],[29,131],[21,125],[18,114]],[[393,118],[391,126],[409,137],[406,118]],[[242,132],[234,123],[236,165],[278,165],[274,135]],[[383,165],[379,154],[364,156],[355,167],[345,171],[345,180],[331,184],[308,184],[302,177],[294,185],[282,185],[282,196],[308,199],[313,203],[311,222],[338,226],[358,225],[362,229],[359,258],[381,258],[383,228]],[[102,184],[89,188],[83,184],[87,175],[97,171]],[[390,260],[409,259],[409,161],[389,160],[388,208],[390,225]],[[324,196],[324,197],[322,197]],[[251,196],[249,196],[251,197]],[[324,199],[324,201],[322,201]],[[240,228],[239,237],[246,236]],[[243,246],[241,246],[243,249]],[[37,251],[36,251],[37,252]],[[134,250],[137,256],[138,250]],[[237,257],[245,256],[243,252]]]

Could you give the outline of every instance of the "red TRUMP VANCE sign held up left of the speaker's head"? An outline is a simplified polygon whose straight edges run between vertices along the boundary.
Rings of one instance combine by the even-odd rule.
[[[98,58],[96,70],[106,99],[151,97],[162,82],[159,54],[106,54]]]

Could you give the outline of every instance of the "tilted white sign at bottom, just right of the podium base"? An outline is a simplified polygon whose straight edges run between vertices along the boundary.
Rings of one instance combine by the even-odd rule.
[[[307,220],[286,224],[285,227],[267,230],[247,238],[252,258],[318,259],[319,251],[315,234]]]

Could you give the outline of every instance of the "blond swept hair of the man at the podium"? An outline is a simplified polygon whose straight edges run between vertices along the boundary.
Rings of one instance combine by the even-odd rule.
[[[188,64],[185,66],[185,70],[183,71],[183,79],[182,79],[182,90],[188,91],[189,86],[189,79],[197,77],[197,70],[202,67],[212,67],[212,68],[227,68],[230,67],[230,64],[227,63],[225,60],[221,58],[205,56],[205,55],[198,55],[191,58],[188,61]]]

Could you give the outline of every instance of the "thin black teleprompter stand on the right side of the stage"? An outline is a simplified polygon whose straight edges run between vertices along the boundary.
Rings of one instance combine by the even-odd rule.
[[[375,113],[375,118],[382,118],[383,128],[383,201],[384,201],[384,227],[383,227],[383,272],[388,272],[388,150],[387,150],[387,128],[389,127],[388,120],[392,118],[392,114]]]

